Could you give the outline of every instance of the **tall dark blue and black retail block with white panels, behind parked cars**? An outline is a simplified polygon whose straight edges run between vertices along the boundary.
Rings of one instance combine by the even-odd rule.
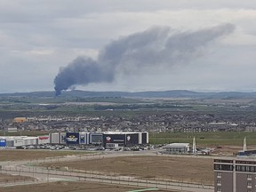
[[[51,144],[99,145],[104,148],[148,144],[148,132],[54,132]]]

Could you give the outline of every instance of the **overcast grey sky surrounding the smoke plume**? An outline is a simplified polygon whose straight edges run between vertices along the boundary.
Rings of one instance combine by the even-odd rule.
[[[0,92],[53,90],[60,67],[77,56],[97,59],[122,36],[161,26],[176,33],[225,23],[233,33],[186,65],[119,73],[93,91],[256,91],[256,4],[238,0],[0,0]],[[134,62],[134,60],[132,60]]]

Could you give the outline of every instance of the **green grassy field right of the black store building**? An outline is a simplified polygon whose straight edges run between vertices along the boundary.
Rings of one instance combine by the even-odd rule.
[[[160,132],[150,133],[151,144],[164,144],[172,142],[188,142],[192,144],[196,137],[197,146],[243,146],[244,137],[247,146],[256,146],[256,132]]]

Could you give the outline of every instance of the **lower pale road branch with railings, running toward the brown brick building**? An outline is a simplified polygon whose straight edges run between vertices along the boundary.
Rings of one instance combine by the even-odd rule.
[[[51,175],[54,175],[54,178],[57,176],[60,177],[62,180],[76,180],[76,181],[94,181],[94,182],[102,182],[102,183],[111,183],[111,184],[118,184],[118,185],[128,185],[128,186],[137,186],[137,187],[147,187],[147,188],[164,188],[164,189],[181,189],[182,188],[194,188],[195,191],[200,188],[200,191],[212,191],[212,186],[205,186],[205,185],[196,185],[192,183],[185,183],[185,182],[172,182],[172,180],[147,180],[147,179],[140,179],[140,178],[132,178],[132,177],[124,177],[118,176],[116,174],[103,174],[99,172],[76,172],[75,170],[68,170],[68,171],[58,171],[52,169],[46,169],[42,167],[35,167],[35,166],[23,166],[23,167],[4,167],[1,170],[2,173],[12,173],[16,172],[19,175],[26,175],[37,177],[39,175],[44,175],[44,182],[53,181],[49,180]],[[42,180],[41,180],[42,181]],[[38,180],[24,180],[24,182],[39,182]],[[12,182],[14,184],[15,182]],[[11,185],[11,183],[9,183]],[[17,184],[17,181],[16,183]],[[7,183],[5,183],[7,185]]]

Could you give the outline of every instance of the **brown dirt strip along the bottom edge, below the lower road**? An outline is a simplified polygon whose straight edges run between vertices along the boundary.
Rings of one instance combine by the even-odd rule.
[[[33,188],[33,190],[31,190]],[[25,185],[25,186],[14,186],[8,188],[0,188],[0,192],[128,192],[136,189],[126,186],[116,186],[92,182],[68,182],[59,181],[52,183],[36,184],[36,185]],[[157,192],[164,192],[164,190],[155,190]],[[166,191],[166,190],[165,190]]]

